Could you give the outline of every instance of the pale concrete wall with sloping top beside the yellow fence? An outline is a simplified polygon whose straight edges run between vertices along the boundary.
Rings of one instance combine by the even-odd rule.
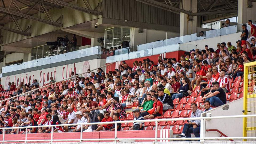
[[[243,115],[243,98],[236,101],[219,106],[213,110],[208,111],[211,116],[229,116],[229,115]],[[204,113],[205,114],[205,113]],[[226,119],[211,119],[206,120],[207,129],[218,129],[228,137],[242,137],[243,136],[243,118],[226,118]],[[205,133],[205,137],[219,137],[220,134],[215,131]],[[219,140],[221,141],[221,140]],[[238,141],[238,140],[236,140]],[[241,140],[240,140],[241,141]]]

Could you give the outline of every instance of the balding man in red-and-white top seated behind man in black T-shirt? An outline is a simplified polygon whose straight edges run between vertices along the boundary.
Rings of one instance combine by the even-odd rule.
[[[212,83],[217,81],[215,78],[212,77],[211,73],[207,73],[205,77],[207,78],[208,81],[200,83],[200,89],[202,91],[201,96],[204,96],[204,94],[210,92],[210,89],[213,86]]]

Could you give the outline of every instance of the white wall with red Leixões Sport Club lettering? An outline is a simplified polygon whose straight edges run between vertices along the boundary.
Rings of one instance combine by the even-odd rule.
[[[17,87],[21,82],[23,82],[24,84],[32,84],[34,79],[37,79],[39,86],[43,86],[45,83],[49,83],[51,81],[50,77],[53,77],[53,79],[57,82],[69,78],[71,71],[74,71],[75,74],[85,73],[87,69],[93,70],[100,67],[100,65],[101,59],[93,59],[69,65],[10,75],[2,77],[1,85],[4,89],[6,89],[9,82],[14,82]],[[84,76],[87,77],[88,74],[86,73]]]

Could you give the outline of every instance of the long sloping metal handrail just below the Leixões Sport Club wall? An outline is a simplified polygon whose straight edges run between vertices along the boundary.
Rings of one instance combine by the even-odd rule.
[[[111,64],[113,64],[113,63],[109,63],[109,64],[104,65],[104,66],[101,66],[101,67],[106,67],[106,66],[111,65]],[[101,68],[101,67],[98,67],[98,68]],[[97,69],[98,69],[98,68],[97,68]],[[97,70],[97,69],[93,69],[93,70],[90,70],[90,71],[86,71],[86,72],[84,72],[84,73],[80,73],[80,74],[78,74],[78,75],[82,75],[82,74],[90,73],[91,71],[94,71],[94,70]],[[50,86],[50,85],[54,85],[54,84],[59,83],[59,82],[62,82],[62,81],[69,80],[69,79],[74,78],[74,77],[77,77],[77,75],[74,75],[74,76],[72,76],[72,77],[69,77],[69,78],[63,79],[63,80],[61,80],[61,81],[54,82],[54,83],[50,83],[49,85],[42,86],[42,87],[40,87],[40,88],[37,88],[37,89],[34,89],[34,90],[30,90],[30,91],[28,91],[28,92],[25,92],[25,93],[22,93],[22,94],[15,95],[15,96],[13,96],[13,97],[10,97],[10,98],[7,98],[7,99],[4,99],[4,100],[0,101],[0,103],[1,103],[1,102],[4,102],[4,101],[7,101],[7,100],[9,100],[9,99],[13,99],[13,98],[16,98],[16,97],[19,97],[19,96],[22,96],[22,95],[26,95],[26,94],[32,93],[33,91],[36,91],[36,90],[42,89],[42,88],[44,88],[44,87],[48,87],[48,86]]]

